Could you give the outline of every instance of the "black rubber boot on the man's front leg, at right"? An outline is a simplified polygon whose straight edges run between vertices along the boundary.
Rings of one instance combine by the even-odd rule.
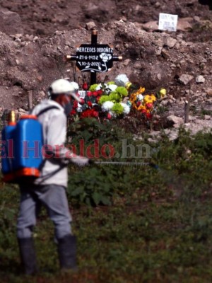
[[[72,235],[58,239],[61,270],[76,270],[76,237]]]

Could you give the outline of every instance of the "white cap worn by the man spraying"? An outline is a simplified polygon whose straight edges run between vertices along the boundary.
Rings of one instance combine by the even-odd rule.
[[[73,84],[66,79],[58,79],[54,81],[49,87],[49,94],[59,95],[65,93],[68,96],[73,96],[74,99],[79,101],[78,96],[76,96],[76,89]]]

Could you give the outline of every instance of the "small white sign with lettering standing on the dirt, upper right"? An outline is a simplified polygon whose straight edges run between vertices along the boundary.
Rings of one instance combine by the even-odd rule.
[[[177,31],[177,15],[160,13],[158,30]]]

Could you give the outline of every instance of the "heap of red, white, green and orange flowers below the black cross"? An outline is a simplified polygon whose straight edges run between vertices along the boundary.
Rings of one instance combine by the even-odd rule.
[[[118,75],[114,81],[95,83],[88,88],[83,83],[83,91],[78,91],[80,102],[75,101],[71,115],[80,118],[111,118],[124,117],[131,109],[141,112],[147,120],[153,119],[155,102],[157,98],[163,99],[166,95],[165,88],[154,94],[144,94],[145,88],[140,87],[132,93],[132,84],[125,74]],[[78,88],[77,86],[75,87]]]

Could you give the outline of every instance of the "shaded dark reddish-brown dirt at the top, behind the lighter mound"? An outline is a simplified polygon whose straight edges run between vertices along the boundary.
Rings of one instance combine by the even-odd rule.
[[[207,0],[199,0],[207,4]],[[159,13],[177,14],[179,18],[199,16],[209,20],[208,5],[198,0],[1,0],[0,6],[18,13],[25,34],[47,36],[55,30],[72,30],[84,27],[92,20],[100,27],[109,21],[147,23],[158,21]]]

